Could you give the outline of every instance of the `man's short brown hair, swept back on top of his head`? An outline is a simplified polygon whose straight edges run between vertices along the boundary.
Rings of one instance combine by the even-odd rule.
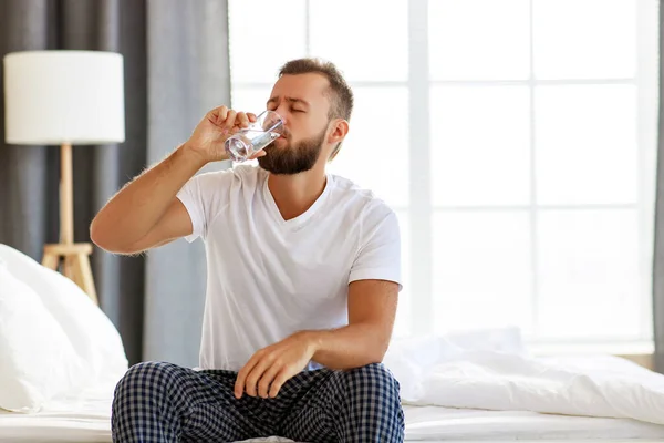
[[[350,122],[353,112],[353,91],[334,63],[321,59],[297,59],[287,62],[279,70],[280,78],[282,75],[309,73],[322,74],[328,79],[328,82],[330,82],[330,112],[328,113],[328,119],[344,119]],[[336,156],[340,148],[341,143],[336,145],[330,155],[330,159]]]

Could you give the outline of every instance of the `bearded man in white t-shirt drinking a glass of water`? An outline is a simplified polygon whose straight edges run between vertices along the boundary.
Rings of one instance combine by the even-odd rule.
[[[108,251],[201,237],[208,266],[201,369],[132,367],[114,442],[403,441],[398,383],[381,363],[401,288],[396,216],[325,172],[352,106],[333,64],[290,61],[267,102],[284,135],[259,167],[195,176],[256,120],[221,106],[97,214],[91,237]]]

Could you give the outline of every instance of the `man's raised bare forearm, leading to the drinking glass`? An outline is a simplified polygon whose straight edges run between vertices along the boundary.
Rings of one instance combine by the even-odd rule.
[[[124,186],[93,219],[97,245],[122,248],[142,239],[164,215],[178,190],[205,165],[180,145],[168,157]]]

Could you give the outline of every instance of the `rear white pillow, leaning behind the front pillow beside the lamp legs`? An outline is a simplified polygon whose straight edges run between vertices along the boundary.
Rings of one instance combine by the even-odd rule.
[[[113,384],[127,370],[122,339],[106,315],[69,278],[0,244],[0,259],[39,296],[87,364],[93,383]]]

